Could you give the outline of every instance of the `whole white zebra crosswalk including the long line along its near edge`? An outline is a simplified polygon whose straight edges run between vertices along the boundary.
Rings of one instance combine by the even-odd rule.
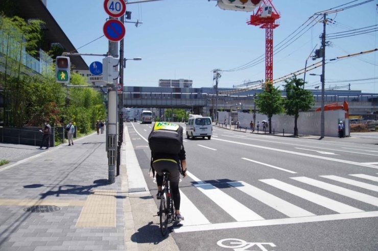
[[[315,212],[318,211],[314,210],[314,212],[311,212],[309,208],[303,209],[300,205],[294,205],[292,202],[288,202],[284,198],[280,198],[259,188],[258,185],[252,186],[244,181],[226,182],[230,188],[235,189],[238,193],[240,193],[237,196],[238,198],[240,198],[240,196],[249,196],[247,198],[258,200],[259,202],[286,216],[286,218],[267,219],[262,215],[259,215],[258,213],[252,211],[249,207],[239,202],[238,199],[236,199],[234,196],[231,196],[222,191],[222,189],[199,180],[190,172],[187,173],[190,178],[197,182],[194,187],[196,187],[202,194],[206,195],[207,199],[210,199],[213,204],[215,203],[218,207],[223,209],[223,211],[231,216],[234,221],[211,223],[206,218],[205,214],[201,212],[201,205],[195,206],[194,203],[192,203],[191,200],[180,190],[180,210],[185,216],[185,220],[182,221],[182,226],[174,228],[175,232],[177,233],[228,228],[243,228],[259,225],[293,224],[300,222],[378,217],[378,208],[375,211],[365,211],[361,208],[356,207],[356,205],[358,206],[359,202],[378,207],[378,197],[375,197],[378,196],[378,193],[376,195],[374,194],[375,192],[378,192],[378,186],[362,182],[366,180],[370,183],[371,181],[378,182],[378,177],[376,176],[367,174],[349,174],[348,177],[339,177],[336,175],[320,175],[319,179],[312,179],[308,177],[290,178],[291,180],[298,182],[294,183],[298,184],[298,186],[280,181],[278,179],[259,180],[261,184],[268,185],[273,189],[285,191],[292,196],[299,197],[301,199],[307,200],[312,204],[323,207],[328,211],[332,210],[335,212],[334,214],[325,215],[315,214]],[[333,184],[320,180],[329,180],[333,182]],[[340,183],[340,185],[347,184],[350,187],[356,187],[357,189],[359,189],[359,191],[334,185],[338,183]],[[336,194],[337,196],[342,195],[343,198],[347,197],[349,199],[356,200],[357,203],[353,203],[353,206],[350,206],[335,200],[335,196],[333,196],[333,198],[329,198],[327,196],[324,196],[323,194],[320,194],[321,192],[315,193],[303,189],[299,187],[300,184],[305,184],[306,188],[315,187],[316,191],[319,191],[319,189],[321,191],[325,191],[324,194],[329,194],[329,192],[331,192]],[[360,192],[364,189],[369,190],[369,194]],[[373,194],[374,196],[370,194]],[[340,200],[344,202],[345,199]],[[244,199],[243,201],[245,202],[246,200]],[[349,200],[346,199],[346,201]],[[361,207],[366,209],[366,206]]]

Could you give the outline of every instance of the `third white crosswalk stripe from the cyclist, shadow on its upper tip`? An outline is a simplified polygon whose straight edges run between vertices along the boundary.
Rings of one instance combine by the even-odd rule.
[[[286,200],[278,198],[264,190],[249,185],[248,183],[245,183],[243,181],[227,183],[289,217],[315,216],[315,214],[309,211],[297,207],[287,202]]]

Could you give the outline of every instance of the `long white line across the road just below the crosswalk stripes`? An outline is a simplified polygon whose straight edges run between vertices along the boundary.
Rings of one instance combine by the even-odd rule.
[[[186,232],[198,232],[198,231],[208,231],[208,230],[251,228],[251,227],[261,227],[261,226],[267,226],[267,225],[285,225],[285,224],[319,222],[319,221],[328,221],[328,220],[359,219],[359,218],[371,218],[371,217],[378,217],[378,211],[349,213],[349,214],[329,214],[329,215],[307,216],[307,217],[298,217],[298,218],[214,223],[214,224],[207,224],[207,225],[174,227],[173,229],[175,233],[186,233]]]

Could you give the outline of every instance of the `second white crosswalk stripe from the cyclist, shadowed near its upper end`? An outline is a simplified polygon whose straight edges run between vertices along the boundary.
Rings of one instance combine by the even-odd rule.
[[[192,178],[194,181],[198,183],[197,185],[194,185],[195,187],[197,187],[219,207],[226,211],[226,213],[231,215],[235,220],[246,221],[264,219],[263,217],[259,216],[258,214],[256,214],[240,202],[238,202],[238,200],[222,192],[215,186],[208,183],[204,183],[188,171],[186,171],[186,173],[190,178]]]

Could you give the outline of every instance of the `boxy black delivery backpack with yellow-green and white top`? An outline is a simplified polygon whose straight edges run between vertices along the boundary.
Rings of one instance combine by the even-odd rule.
[[[181,125],[170,122],[155,122],[148,144],[153,153],[178,154],[182,148]]]

